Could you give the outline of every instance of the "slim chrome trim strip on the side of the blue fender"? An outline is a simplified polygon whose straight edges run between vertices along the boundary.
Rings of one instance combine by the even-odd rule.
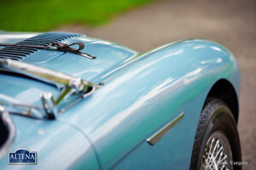
[[[154,145],[157,143],[177,122],[179,122],[184,116],[184,112],[179,114],[172,122],[168,122],[164,127],[160,128],[156,133],[151,135],[147,141],[149,144]]]

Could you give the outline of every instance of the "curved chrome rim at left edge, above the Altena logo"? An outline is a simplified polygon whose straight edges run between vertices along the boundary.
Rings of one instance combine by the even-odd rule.
[[[0,158],[2,158],[6,152],[9,150],[11,144],[14,143],[15,140],[15,124],[12,122],[11,117],[9,116],[9,112],[4,109],[2,105],[0,105],[0,119],[6,125],[9,130],[9,136],[3,146],[0,148]]]

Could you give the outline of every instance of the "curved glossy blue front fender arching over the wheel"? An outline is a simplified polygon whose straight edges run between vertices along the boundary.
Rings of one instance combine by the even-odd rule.
[[[89,136],[103,168],[187,169],[207,94],[223,78],[238,90],[237,69],[232,54],[213,42],[177,42],[138,57],[59,119]],[[146,142],[181,112],[183,120],[160,143]]]

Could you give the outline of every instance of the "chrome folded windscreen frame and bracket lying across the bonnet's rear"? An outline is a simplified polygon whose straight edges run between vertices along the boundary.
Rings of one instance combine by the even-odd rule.
[[[43,82],[54,83],[57,87],[61,87],[61,93],[56,97],[56,99],[54,99],[50,93],[44,93],[41,98],[45,112],[43,117],[51,119],[54,119],[55,116],[58,115],[57,106],[60,105],[61,101],[66,99],[69,95],[79,94],[81,98],[84,98],[103,85],[102,83],[94,84],[92,82],[84,81],[79,77],[72,77],[58,71],[51,71],[43,67],[30,65],[21,61],[15,61],[13,59],[0,59],[0,71],[1,70],[13,71]],[[12,104],[13,103],[9,104],[4,101],[4,105]],[[26,116],[37,115],[35,114],[37,111],[34,109],[31,110],[31,108],[32,107],[26,107],[26,110],[22,109],[23,112],[25,111],[22,114]],[[12,110],[11,108],[8,109]],[[63,111],[66,111],[66,109],[64,108],[61,112]],[[42,116],[36,117],[42,118]]]

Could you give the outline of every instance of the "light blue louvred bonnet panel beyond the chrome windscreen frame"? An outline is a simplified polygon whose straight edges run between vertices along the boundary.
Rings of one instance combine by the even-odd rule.
[[[11,37],[11,35],[10,35]],[[1,35],[0,35],[1,39]],[[138,53],[130,48],[125,48],[113,42],[86,37],[82,34],[47,32],[22,39],[15,44],[44,45],[63,42],[84,43],[82,53],[96,56],[96,59],[87,59],[79,54],[63,52],[59,50],[24,48],[24,47],[0,47],[0,59],[15,59],[32,65],[38,65],[53,71],[81,77],[85,80],[97,82],[104,75],[115,70],[119,65],[124,65]]]

